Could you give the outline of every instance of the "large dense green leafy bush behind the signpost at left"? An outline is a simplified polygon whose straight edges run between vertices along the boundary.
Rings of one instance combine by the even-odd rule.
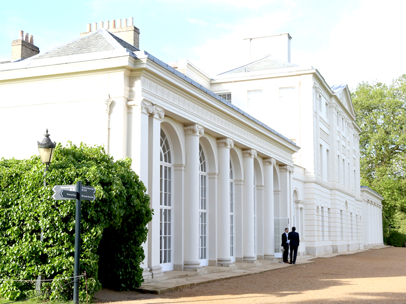
[[[0,160],[0,279],[73,276],[75,201],[55,201],[51,196],[53,185],[82,181],[96,188],[96,200],[82,201],[80,271],[86,271],[89,295],[101,283],[109,285],[109,279],[115,280],[111,286],[118,290],[139,287],[144,259],[141,245],[152,212],[145,186],[130,168],[131,160],[113,161],[103,147],[58,144],[46,174],[48,186],[43,185],[44,166],[37,156]],[[98,251],[102,240],[112,253]],[[103,260],[109,254],[114,262],[107,265]],[[100,271],[114,276],[100,283]],[[70,281],[43,283],[42,289],[54,290]],[[84,279],[80,286],[80,300],[85,300]],[[33,283],[0,281],[0,296],[10,300],[25,298],[33,290]],[[50,300],[72,297],[73,284],[49,295]]]

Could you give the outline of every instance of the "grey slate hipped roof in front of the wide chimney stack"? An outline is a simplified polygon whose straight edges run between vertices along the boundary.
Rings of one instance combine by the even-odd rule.
[[[100,28],[67,44],[45,53],[40,53],[32,57],[32,60],[111,51],[118,48],[128,49],[133,52],[139,51],[139,49],[108,32],[106,29]]]

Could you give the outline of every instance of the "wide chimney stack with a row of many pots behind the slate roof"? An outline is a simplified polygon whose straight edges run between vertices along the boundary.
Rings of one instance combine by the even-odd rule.
[[[140,48],[140,30],[133,25],[134,19],[131,17],[128,20],[123,19],[121,22],[121,19],[117,20],[111,20],[99,22],[99,28],[105,28],[112,34],[116,35],[117,37],[120,37],[122,40],[125,42],[129,43],[130,45],[133,45],[137,49]],[[127,22],[128,21],[128,22]],[[122,26],[121,26],[122,25]],[[93,23],[93,28],[90,28],[90,23],[86,25],[86,32],[81,33],[80,35],[86,35],[90,31],[95,31],[97,30],[97,22]]]

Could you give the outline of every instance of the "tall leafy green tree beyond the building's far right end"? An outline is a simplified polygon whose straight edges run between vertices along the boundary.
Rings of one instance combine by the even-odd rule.
[[[384,224],[406,229],[406,74],[352,92],[360,133],[361,184],[384,197]],[[388,232],[387,229],[386,232]]]

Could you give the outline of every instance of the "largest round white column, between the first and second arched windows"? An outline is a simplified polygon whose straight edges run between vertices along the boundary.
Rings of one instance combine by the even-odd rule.
[[[200,125],[185,125],[185,271],[201,269],[199,262],[199,137]]]

